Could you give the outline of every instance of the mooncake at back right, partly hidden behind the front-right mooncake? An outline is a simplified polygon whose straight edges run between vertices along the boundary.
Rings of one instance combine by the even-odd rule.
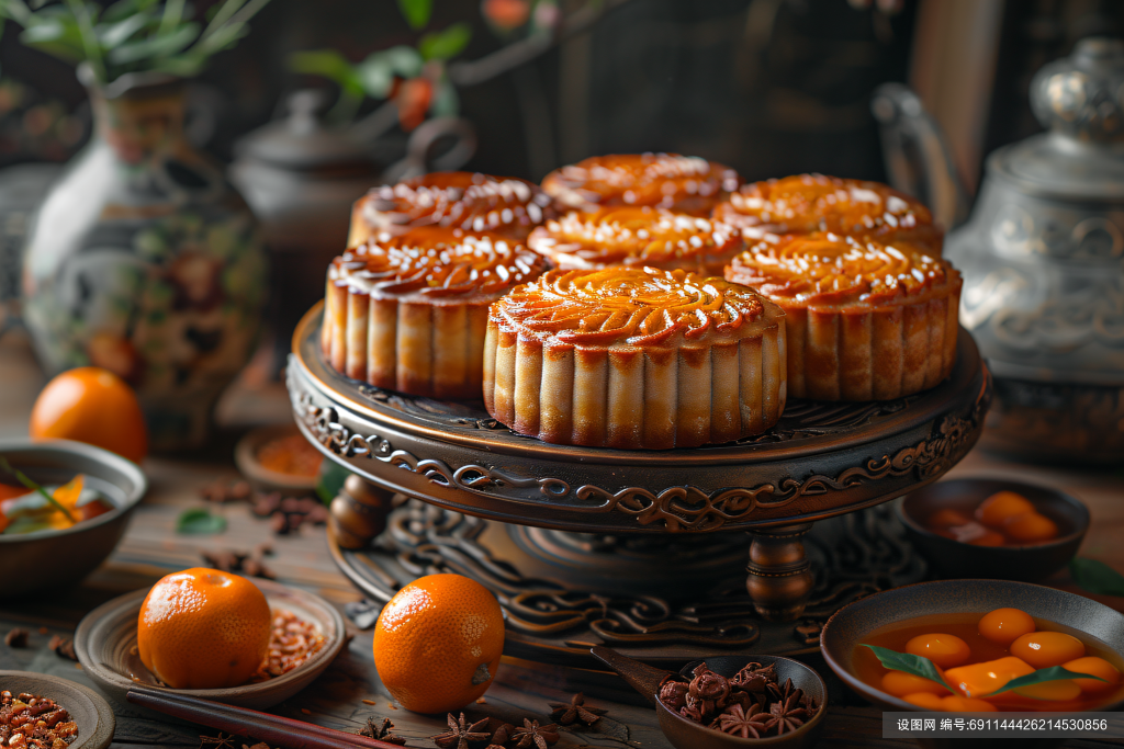
[[[916,199],[880,182],[797,174],[743,184],[714,209],[717,221],[760,238],[764,232],[832,231],[925,245],[941,254],[943,235]]]

